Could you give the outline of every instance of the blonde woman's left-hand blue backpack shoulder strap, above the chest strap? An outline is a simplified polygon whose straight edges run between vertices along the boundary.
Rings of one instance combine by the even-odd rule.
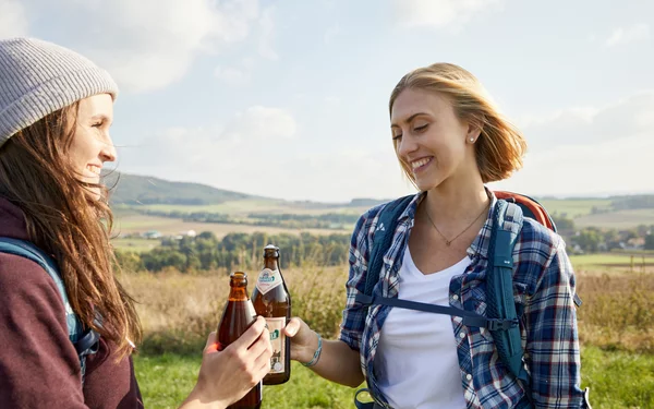
[[[377,230],[373,234],[373,245],[370,251],[368,267],[365,275],[364,294],[372,296],[375,285],[379,281],[379,274],[384,265],[384,254],[390,249],[398,218],[407,209],[409,203],[415,197],[410,194],[388,203],[379,213]]]

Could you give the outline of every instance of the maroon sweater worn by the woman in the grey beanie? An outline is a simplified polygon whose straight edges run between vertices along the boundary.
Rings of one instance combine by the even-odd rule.
[[[2,197],[0,236],[27,240],[22,210]],[[143,408],[131,357],[117,363],[100,340],[86,362],[83,388],[55,281],[38,264],[0,253],[0,408]]]

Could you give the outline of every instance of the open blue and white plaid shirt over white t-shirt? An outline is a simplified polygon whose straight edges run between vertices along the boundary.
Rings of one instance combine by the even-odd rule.
[[[399,270],[404,249],[413,227],[415,209],[424,193],[411,201],[399,218],[391,246],[384,255],[380,273],[382,297],[397,298]],[[479,236],[468,249],[470,266],[460,276],[452,277],[449,287],[451,306],[485,315],[485,276],[487,249],[493,225],[492,195],[488,217]],[[373,363],[384,321],[389,306],[371,305],[367,316],[354,298],[365,288],[371,243],[378,226],[378,216],[385,205],[366,212],[359,219],[350,248],[350,277],[346,285],[348,300],[343,310],[340,339],[360,351],[361,368],[378,405],[389,408],[376,385]],[[520,328],[524,362],[531,374],[531,394],[536,408],[581,408],[580,356],[577,315],[573,305],[574,273],[565,251],[562,239],[532,219],[524,219],[513,250],[513,297],[518,312],[522,311]],[[521,383],[499,363],[493,336],[486,328],[468,327],[460,317],[452,316],[452,336],[461,375],[461,392],[467,408],[517,408],[528,399]],[[424,387],[437,385],[437,380],[425,380]]]

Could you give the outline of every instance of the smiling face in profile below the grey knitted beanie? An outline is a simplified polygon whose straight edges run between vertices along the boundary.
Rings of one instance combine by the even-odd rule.
[[[92,184],[100,182],[106,161],[116,160],[116,148],[109,136],[113,121],[113,100],[108,94],[95,95],[80,101],[75,133],[68,151],[77,178]],[[99,188],[89,188],[100,199]]]

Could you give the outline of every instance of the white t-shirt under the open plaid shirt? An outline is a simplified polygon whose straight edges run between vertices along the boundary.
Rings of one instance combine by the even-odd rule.
[[[409,248],[399,276],[403,300],[449,305],[449,282],[470,258],[435,274],[417,269]],[[396,409],[463,409],[463,386],[449,315],[393,308],[382,327],[375,356],[378,386]]]

